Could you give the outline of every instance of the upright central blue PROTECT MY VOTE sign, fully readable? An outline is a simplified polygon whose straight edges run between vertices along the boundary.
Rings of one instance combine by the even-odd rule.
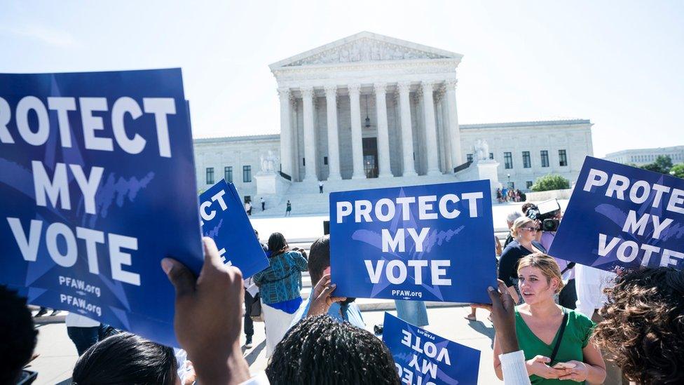
[[[489,303],[489,181],[330,194],[335,295]]]

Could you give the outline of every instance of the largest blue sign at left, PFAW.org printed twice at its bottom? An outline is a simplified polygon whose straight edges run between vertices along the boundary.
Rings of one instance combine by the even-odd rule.
[[[175,345],[160,259],[203,263],[180,69],[0,74],[0,283]]]

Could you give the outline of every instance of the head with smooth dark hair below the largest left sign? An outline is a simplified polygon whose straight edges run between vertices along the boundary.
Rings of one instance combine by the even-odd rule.
[[[131,333],[107,337],[78,358],[72,379],[88,384],[180,384],[173,349]]]

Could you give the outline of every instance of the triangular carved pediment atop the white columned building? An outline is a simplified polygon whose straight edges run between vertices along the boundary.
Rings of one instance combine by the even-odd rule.
[[[360,32],[332,43],[308,50],[292,58],[273,63],[271,70],[308,65],[331,65],[385,60],[456,59],[459,53],[423,46],[389,36]]]

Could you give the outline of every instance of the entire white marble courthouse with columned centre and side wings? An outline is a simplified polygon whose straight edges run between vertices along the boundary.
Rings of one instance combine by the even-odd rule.
[[[461,58],[360,32],[275,62],[280,135],[195,140],[198,187],[230,176],[245,198],[280,205],[319,180],[334,189],[490,179],[526,190],[549,173],[573,182],[593,154],[591,122],[460,125]]]

